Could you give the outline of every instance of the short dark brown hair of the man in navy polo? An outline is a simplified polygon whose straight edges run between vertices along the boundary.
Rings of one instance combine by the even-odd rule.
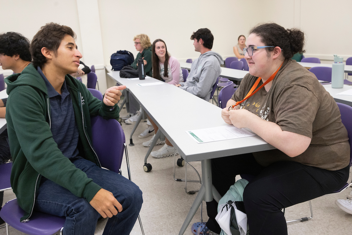
[[[47,59],[42,54],[43,47],[54,51],[54,54],[56,55],[57,49],[66,35],[70,35],[76,40],[75,32],[68,26],[59,25],[53,22],[42,26],[36,35],[34,35],[30,46],[33,57],[33,66],[42,67],[43,64],[46,63]]]

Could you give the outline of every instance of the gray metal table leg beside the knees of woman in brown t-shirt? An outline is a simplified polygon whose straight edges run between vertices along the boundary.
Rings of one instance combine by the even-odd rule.
[[[206,202],[211,202],[213,200],[213,190],[214,196],[218,198],[220,194],[212,184],[212,161],[211,159],[202,160],[202,186],[200,187],[197,197],[194,200],[178,235],[184,234],[202,201],[205,200]]]

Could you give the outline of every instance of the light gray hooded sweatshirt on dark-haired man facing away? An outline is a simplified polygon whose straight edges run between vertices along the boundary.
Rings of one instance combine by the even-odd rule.
[[[201,54],[193,61],[187,80],[180,83],[180,88],[209,101],[213,85],[221,73],[220,64],[224,64],[224,60],[218,53],[207,51]]]

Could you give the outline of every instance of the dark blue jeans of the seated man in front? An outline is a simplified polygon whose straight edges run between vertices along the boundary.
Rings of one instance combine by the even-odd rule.
[[[142,191],[122,175],[101,169],[85,159],[72,161],[88,178],[112,192],[123,210],[108,219],[103,235],[130,234],[142,207]],[[46,179],[38,190],[35,209],[48,214],[65,216],[64,235],[94,235],[100,214],[85,198],[76,197],[66,188]]]

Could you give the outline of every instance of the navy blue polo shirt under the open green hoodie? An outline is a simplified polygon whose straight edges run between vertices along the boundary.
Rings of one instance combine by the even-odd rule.
[[[37,70],[42,76],[46,88],[48,88],[52,137],[65,157],[71,160],[80,158],[77,157],[79,132],[75,121],[71,95],[68,91],[70,87],[64,81],[61,87],[61,94],[59,94],[46,79],[39,66]]]

